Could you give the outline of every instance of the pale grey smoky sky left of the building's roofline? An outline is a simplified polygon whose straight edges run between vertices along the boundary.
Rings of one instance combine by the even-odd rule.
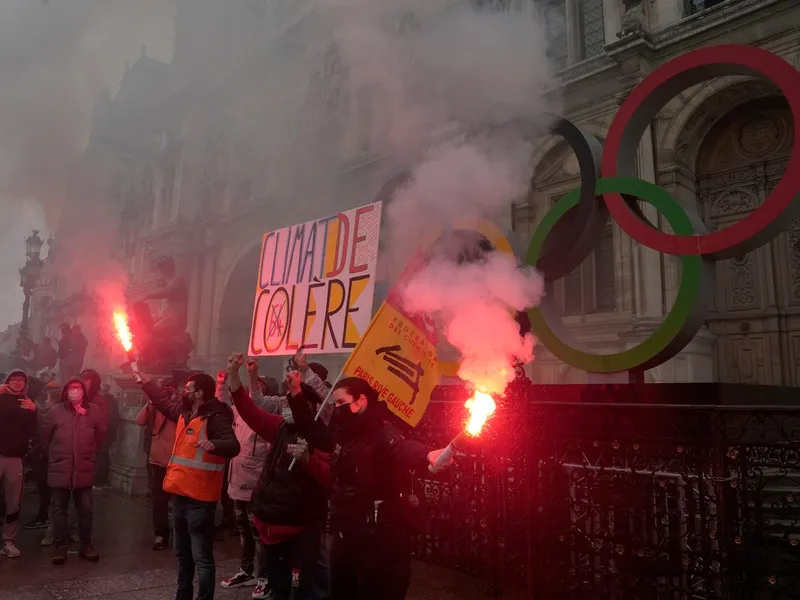
[[[24,240],[55,227],[96,94],[142,45],[169,60],[173,14],[174,0],[0,2],[0,329],[21,318]]]

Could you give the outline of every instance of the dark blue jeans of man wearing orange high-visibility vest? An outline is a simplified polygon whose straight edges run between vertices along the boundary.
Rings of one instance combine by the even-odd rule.
[[[201,502],[185,496],[172,497],[172,534],[178,558],[178,591],[175,600],[194,600],[197,570],[197,600],[214,600],[214,510],[216,502]]]

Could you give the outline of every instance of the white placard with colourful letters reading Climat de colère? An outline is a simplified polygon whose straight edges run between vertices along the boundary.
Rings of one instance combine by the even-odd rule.
[[[381,203],[264,234],[250,356],[348,353],[370,323]]]

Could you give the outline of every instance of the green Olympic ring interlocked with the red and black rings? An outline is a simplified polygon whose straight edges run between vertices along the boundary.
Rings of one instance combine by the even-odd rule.
[[[595,192],[620,193],[643,200],[660,212],[675,235],[704,232],[680,203],[657,185],[641,179],[608,177],[597,180]],[[556,223],[580,201],[580,188],[569,192],[544,215],[533,232],[525,262],[536,266],[548,235]],[[547,349],[561,361],[592,373],[641,372],[669,360],[688,344],[703,325],[711,304],[714,263],[698,255],[681,256],[681,278],[675,303],[653,334],[632,348],[597,354],[582,347],[566,330],[553,301],[553,283],[547,282],[542,303],[528,309],[531,328]]]

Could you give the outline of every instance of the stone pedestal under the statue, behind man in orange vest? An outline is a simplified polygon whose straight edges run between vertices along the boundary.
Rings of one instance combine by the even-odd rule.
[[[120,388],[119,432],[111,457],[111,487],[130,496],[147,493],[147,455],[144,453],[144,428],[136,416],[147,399],[133,377],[114,378]]]

